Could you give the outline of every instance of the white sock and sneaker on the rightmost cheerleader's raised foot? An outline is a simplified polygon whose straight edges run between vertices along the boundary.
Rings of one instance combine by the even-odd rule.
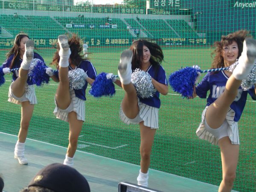
[[[247,43],[245,43],[247,41]],[[233,71],[237,80],[243,80],[253,69],[256,58],[256,41],[248,39],[244,41],[243,52],[238,60],[238,65]]]

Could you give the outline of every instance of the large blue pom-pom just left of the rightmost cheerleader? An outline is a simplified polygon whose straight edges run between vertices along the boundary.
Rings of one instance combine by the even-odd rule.
[[[169,84],[172,89],[180,93],[183,98],[193,96],[194,83],[197,78],[197,70],[192,67],[185,67],[172,73],[169,77]]]

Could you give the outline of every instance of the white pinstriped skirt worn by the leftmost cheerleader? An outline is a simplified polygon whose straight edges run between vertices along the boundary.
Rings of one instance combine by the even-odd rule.
[[[28,85],[26,83],[25,93],[21,97],[16,97],[13,94],[13,92],[12,92],[12,84],[13,84],[13,82],[11,83],[11,85],[9,87],[9,94],[8,94],[8,97],[9,97],[8,101],[9,102],[12,102],[12,103],[20,105],[21,102],[29,101],[30,105],[37,104],[37,99],[36,99],[36,96],[35,96],[35,87],[34,87],[33,84],[32,85]]]

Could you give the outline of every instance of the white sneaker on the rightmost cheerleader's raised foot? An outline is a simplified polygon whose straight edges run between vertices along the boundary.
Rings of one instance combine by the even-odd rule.
[[[248,63],[253,63],[256,59],[256,40],[253,38],[246,38],[244,40],[243,52],[241,56],[244,57]]]

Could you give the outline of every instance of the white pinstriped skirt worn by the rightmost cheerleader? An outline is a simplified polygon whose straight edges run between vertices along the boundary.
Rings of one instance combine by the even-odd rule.
[[[207,131],[204,125],[205,124],[204,117],[208,107],[209,106],[207,106],[202,113],[202,122],[199,125],[196,131],[196,134],[200,139],[207,140],[210,143],[212,143],[212,145],[218,145],[217,137],[214,136],[213,132],[212,133],[208,132],[209,130]],[[225,129],[228,137],[230,138],[231,143],[233,145],[239,145],[240,141],[239,141],[238,123],[234,121],[234,117],[235,117],[235,111],[230,108],[230,110],[227,112],[227,115],[226,115],[227,126],[225,127]]]

